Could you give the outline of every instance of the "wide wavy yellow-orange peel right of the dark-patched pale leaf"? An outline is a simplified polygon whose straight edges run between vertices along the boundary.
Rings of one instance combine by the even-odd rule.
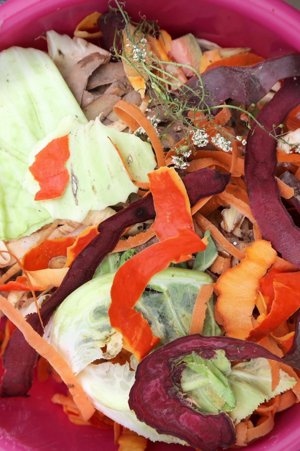
[[[243,340],[252,329],[260,280],[272,266],[276,251],[269,242],[260,240],[247,247],[245,254],[246,258],[222,274],[215,284],[219,291],[216,309],[224,318],[226,334]]]

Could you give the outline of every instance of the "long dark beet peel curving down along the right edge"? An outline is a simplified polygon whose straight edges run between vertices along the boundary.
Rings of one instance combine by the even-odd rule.
[[[300,77],[288,78],[256,116],[269,132],[278,127],[300,103]],[[278,129],[277,129],[278,130]],[[280,129],[279,129],[280,130]],[[263,239],[282,254],[282,258],[300,268],[300,229],[282,205],[275,180],[277,141],[255,122],[247,138],[245,179],[251,212]]]

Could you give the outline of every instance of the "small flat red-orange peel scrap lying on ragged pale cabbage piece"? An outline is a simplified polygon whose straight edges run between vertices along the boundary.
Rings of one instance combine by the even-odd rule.
[[[69,136],[62,136],[50,141],[35,156],[29,170],[39,182],[40,190],[35,200],[55,199],[63,195],[69,181],[66,162],[70,157]]]

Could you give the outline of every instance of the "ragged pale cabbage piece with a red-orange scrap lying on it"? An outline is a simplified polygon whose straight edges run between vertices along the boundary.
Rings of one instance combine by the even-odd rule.
[[[40,201],[54,219],[82,222],[90,210],[103,210],[125,202],[138,188],[130,180],[121,158],[111,143],[119,148],[125,164],[135,180],[147,182],[148,172],[156,161],[149,143],[133,134],[118,132],[101,123],[99,117],[88,124],[76,122],[72,116],[61,120],[58,127],[32,148],[29,166],[35,156],[55,138],[68,135],[70,158],[66,168],[69,181],[61,197]],[[40,189],[27,170],[23,187],[31,194]]]

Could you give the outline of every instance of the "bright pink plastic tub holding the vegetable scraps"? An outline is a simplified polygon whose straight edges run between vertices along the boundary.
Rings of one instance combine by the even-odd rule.
[[[264,57],[300,51],[300,13],[280,0],[127,0],[135,18],[139,11],[159,19],[173,36],[193,32],[222,46],[249,46]],[[0,50],[12,45],[43,46],[34,39],[48,29],[72,34],[76,24],[107,0],[9,0],[0,7]],[[0,68],[1,70],[1,68]],[[51,403],[61,384],[35,382],[30,398],[0,400],[0,451],[113,451],[112,430],[75,426],[60,406]],[[276,415],[275,428],[249,451],[299,451],[300,405]],[[184,451],[179,445],[151,443],[149,451]]]

